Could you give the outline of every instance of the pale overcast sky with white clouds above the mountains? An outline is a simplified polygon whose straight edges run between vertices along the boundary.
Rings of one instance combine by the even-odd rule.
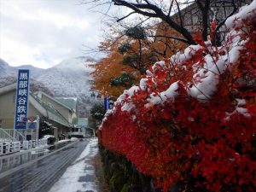
[[[0,0],[0,58],[52,67],[102,40],[102,15],[79,0]]]

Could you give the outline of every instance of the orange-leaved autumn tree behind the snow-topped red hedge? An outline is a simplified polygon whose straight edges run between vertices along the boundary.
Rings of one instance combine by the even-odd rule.
[[[123,34],[113,32],[113,37],[106,38],[99,46],[107,56],[93,66],[96,70],[92,73],[92,89],[102,96],[119,96],[136,84],[152,63],[185,47],[182,42],[170,38],[174,33],[163,23],[147,29],[129,27]]]

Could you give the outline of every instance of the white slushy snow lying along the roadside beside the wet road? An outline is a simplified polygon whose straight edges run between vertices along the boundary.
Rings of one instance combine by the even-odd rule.
[[[64,172],[49,192],[98,191],[95,168],[88,162],[98,153],[97,143],[97,139],[90,140],[79,158],[67,167],[67,171]]]

